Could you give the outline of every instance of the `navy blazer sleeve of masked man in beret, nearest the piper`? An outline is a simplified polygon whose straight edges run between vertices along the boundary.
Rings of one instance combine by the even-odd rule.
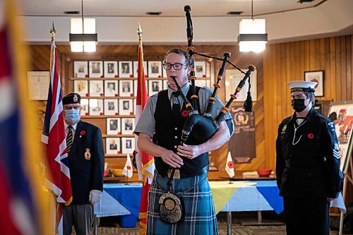
[[[104,172],[104,150],[103,140],[100,128],[97,128],[92,140],[92,169],[91,169],[91,185],[90,188],[103,191],[103,172]]]

